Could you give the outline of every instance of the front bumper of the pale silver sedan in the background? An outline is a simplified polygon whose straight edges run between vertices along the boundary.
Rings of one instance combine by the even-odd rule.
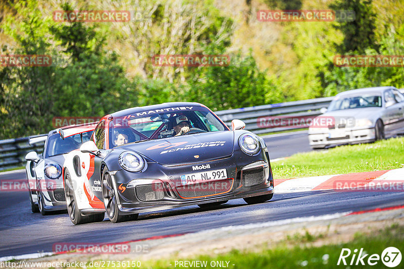
[[[323,131],[309,130],[309,143],[312,148],[325,148],[343,144],[354,145],[375,140],[375,127]]]

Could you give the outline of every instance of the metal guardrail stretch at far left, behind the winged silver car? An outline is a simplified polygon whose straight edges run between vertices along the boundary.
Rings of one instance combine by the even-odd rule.
[[[38,154],[42,153],[44,142],[30,145],[29,139],[44,135],[0,140],[0,171],[25,165],[24,157],[30,151],[36,151]]]

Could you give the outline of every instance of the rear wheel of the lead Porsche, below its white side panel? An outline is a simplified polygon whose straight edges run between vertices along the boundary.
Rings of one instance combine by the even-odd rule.
[[[66,197],[66,207],[67,213],[69,214],[70,220],[74,225],[89,223],[93,220],[94,215],[82,216],[80,210],[76,205],[76,195],[74,194],[74,188],[72,180],[70,178],[69,170],[65,170],[65,197]],[[103,213],[104,216],[104,213]]]

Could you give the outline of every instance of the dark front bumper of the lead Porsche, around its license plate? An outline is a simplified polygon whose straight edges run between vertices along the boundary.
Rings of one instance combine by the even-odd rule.
[[[240,156],[241,154],[241,156]],[[235,156],[240,156],[236,158]],[[134,174],[125,170],[119,170],[114,175],[117,186],[121,186],[121,191],[118,193],[118,207],[122,214],[135,214],[144,213],[156,210],[166,210],[177,207],[213,203],[215,201],[223,201],[229,199],[245,198],[251,196],[259,196],[271,194],[274,192],[273,177],[271,165],[269,163],[268,152],[261,151],[256,156],[246,156],[244,153],[235,152],[228,158],[221,160],[198,162],[197,165],[210,165],[209,169],[205,170],[219,170],[225,168],[227,171],[227,179],[231,181],[231,185],[224,191],[218,191],[214,194],[208,194],[204,189],[195,187],[195,195],[184,197],[181,195],[180,188],[184,187],[181,183],[181,175],[190,174],[193,172],[192,166],[195,163],[185,165],[161,165],[158,163],[148,163],[147,172],[136,174],[139,182],[155,182],[164,186],[160,189],[160,193],[151,194],[153,197],[158,197],[157,200],[144,201],[139,199],[137,193],[137,186],[144,186],[143,183],[135,187],[126,187],[127,184],[134,179]],[[147,175],[141,175],[147,174]],[[254,178],[255,175],[260,175]],[[246,181],[246,180],[251,181]],[[210,183],[219,181],[209,181]],[[251,183],[252,182],[252,183]],[[205,182],[209,184],[208,182]],[[122,191],[122,186],[125,190]],[[186,185],[190,186],[190,185]],[[222,185],[223,186],[223,185]],[[201,195],[198,195],[201,194]],[[144,197],[144,196],[143,196]]]

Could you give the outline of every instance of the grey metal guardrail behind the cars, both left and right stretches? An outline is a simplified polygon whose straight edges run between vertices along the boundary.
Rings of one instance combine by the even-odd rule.
[[[404,89],[399,90],[404,93]],[[266,126],[266,124],[261,124],[261,120],[264,119],[264,121],[268,121],[268,119],[271,119],[272,117],[276,118],[277,116],[281,116],[278,118],[285,120],[292,118],[314,118],[321,114],[321,108],[328,107],[332,99],[333,97],[324,97],[279,104],[221,110],[216,111],[215,113],[229,127],[231,126],[231,121],[233,119],[241,119],[245,123],[245,129],[260,134],[305,127],[301,125],[276,127],[276,124]],[[43,142],[35,145],[29,145],[28,143],[29,138],[40,136],[44,136],[44,134],[27,138],[0,140],[0,171],[24,165],[24,157],[30,151],[34,150],[38,154],[41,153],[43,151]]]

